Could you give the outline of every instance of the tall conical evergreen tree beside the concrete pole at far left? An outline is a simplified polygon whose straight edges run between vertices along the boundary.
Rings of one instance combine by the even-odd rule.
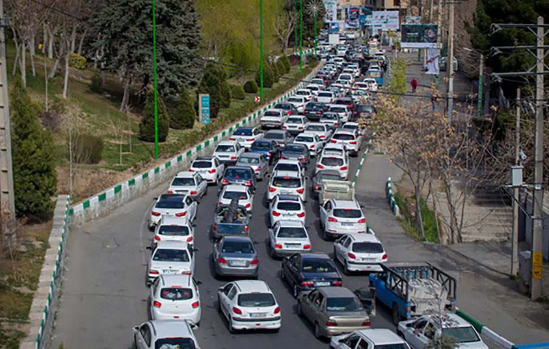
[[[42,128],[40,108],[19,78],[10,93],[10,108],[16,215],[48,219],[57,187],[53,137]]]

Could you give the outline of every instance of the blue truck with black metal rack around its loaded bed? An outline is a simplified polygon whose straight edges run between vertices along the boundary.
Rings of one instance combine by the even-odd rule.
[[[393,310],[393,323],[425,313],[455,310],[456,279],[428,262],[380,264],[383,272],[370,274],[376,298]]]

